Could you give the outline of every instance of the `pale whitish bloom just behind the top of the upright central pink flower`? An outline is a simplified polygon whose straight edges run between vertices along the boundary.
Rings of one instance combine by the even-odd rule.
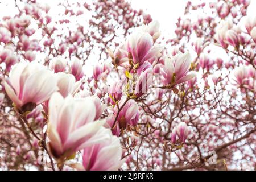
[[[160,24],[158,21],[152,21],[147,25],[143,24],[141,27],[138,28],[138,30],[150,34],[155,42],[155,40],[158,39],[160,36],[159,27]]]

